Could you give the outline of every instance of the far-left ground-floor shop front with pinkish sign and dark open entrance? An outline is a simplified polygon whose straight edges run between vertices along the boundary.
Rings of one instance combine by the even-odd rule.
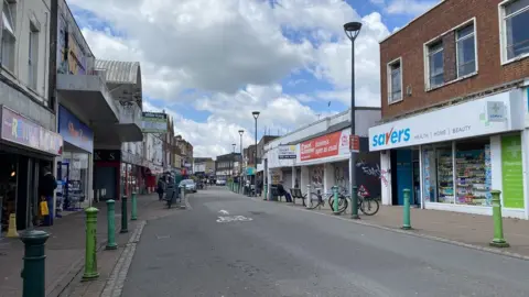
[[[1,107],[0,131],[0,221],[1,231],[9,226],[9,216],[17,216],[17,229],[45,222],[39,211],[39,179],[61,155],[63,139],[24,116]],[[51,208],[53,209],[53,207]]]

